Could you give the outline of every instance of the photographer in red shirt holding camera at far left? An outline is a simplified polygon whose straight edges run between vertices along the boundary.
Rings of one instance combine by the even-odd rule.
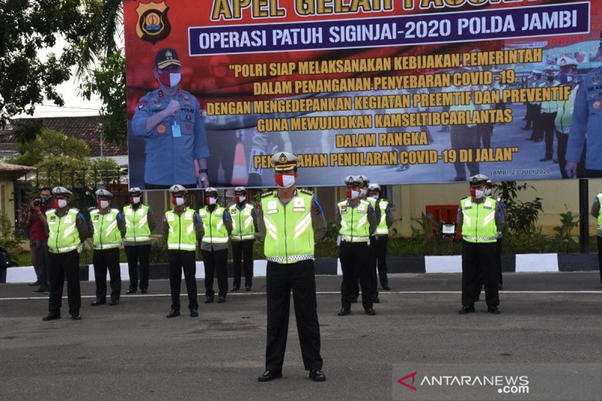
[[[36,270],[37,283],[40,288],[31,293],[49,293],[48,286],[48,235],[44,230],[46,210],[51,209],[51,189],[47,186],[40,189],[40,196],[29,203],[29,213],[25,226],[29,228],[29,244],[35,250],[32,262]]]

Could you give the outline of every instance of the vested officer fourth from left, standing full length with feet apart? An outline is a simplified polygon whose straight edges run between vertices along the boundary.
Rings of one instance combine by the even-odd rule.
[[[169,188],[172,209],[165,212],[161,233],[167,241],[169,263],[169,287],[172,292],[172,310],[167,318],[180,316],[180,286],[182,270],[188,290],[188,309],[191,317],[198,317],[199,302],[196,292],[196,240],[200,236],[202,223],[199,213],[186,206],[188,191],[182,185]]]

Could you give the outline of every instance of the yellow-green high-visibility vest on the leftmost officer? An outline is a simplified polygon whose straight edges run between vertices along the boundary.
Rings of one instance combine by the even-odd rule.
[[[79,231],[75,224],[77,213],[79,210],[73,207],[70,207],[64,216],[57,216],[55,209],[46,211],[49,252],[62,254],[81,249]]]

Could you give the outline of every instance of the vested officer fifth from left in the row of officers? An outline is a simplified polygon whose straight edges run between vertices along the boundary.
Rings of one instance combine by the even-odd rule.
[[[206,206],[199,209],[202,227],[200,229],[200,253],[205,265],[205,304],[213,302],[213,277],[217,273],[219,289],[217,303],[226,302],[228,294],[228,237],[232,232],[232,220],[228,210],[217,204],[217,189],[205,190]]]

